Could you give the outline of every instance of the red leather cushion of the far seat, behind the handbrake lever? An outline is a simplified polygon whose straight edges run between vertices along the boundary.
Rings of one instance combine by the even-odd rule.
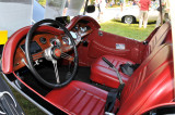
[[[121,73],[120,65],[126,63],[135,64],[135,62],[115,55],[104,55],[104,58],[114,64],[114,66],[119,71],[124,82],[127,82],[130,77]],[[102,58],[97,59],[92,64],[90,78],[92,81],[107,87],[118,88],[119,86],[119,79],[116,72],[110,68]]]

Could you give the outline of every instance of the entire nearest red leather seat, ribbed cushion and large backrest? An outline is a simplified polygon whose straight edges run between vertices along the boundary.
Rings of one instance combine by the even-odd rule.
[[[141,114],[154,105],[173,101],[172,46],[163,44],[156,50],[126,82],[120,102],[116,101],[118,115]],[[72,81],[63,88],[54,89],[46,99],[68,114],[102,115],[106,97],[104,90]]]

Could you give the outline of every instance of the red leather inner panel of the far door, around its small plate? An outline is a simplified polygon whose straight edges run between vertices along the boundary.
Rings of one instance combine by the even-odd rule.
[[[101,33],[102,36],[95,34],[94,39],[90,43],[90,58],[96,59],[105,54],[113,54],[140,63],[139,55],[140,51],[142,51],[140,47],[143,46],[141,42],[105,31]],[[116,49],[116,43],[125,46],[125,49]]]

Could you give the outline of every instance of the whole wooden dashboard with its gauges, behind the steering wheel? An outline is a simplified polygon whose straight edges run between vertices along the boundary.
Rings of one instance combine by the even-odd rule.
[[[79,22],[72,26],[71,29],[69,29],[71,36],[74,39],[75,44],[78,46],[85,36],[90,35],[93,29],[89,25],[89,23],[82,23]],[[66,34],[49,34],[49,33],[36,33],[33,37],[33,41],[31,42],[31,54],[33,56],[33,60],[39,60],[43,58],[43,53],[45,49],[57,46],[62,52],[69,52],[72,50],[72,44],[70,41],[70,38]],[[14,64],[13,64],[13,71],[18,71],[22,67],[24,67],[26,64],[26,58],[25,58],[25,37],[23,40],[20,41],[19,47],[16,49],[15,55],[14,55]]]

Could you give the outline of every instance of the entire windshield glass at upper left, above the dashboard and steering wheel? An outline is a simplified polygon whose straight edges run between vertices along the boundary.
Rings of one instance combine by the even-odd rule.
[[[83,14],[85,0],[0,0],[0,30],[11,36],[44,18]]]

